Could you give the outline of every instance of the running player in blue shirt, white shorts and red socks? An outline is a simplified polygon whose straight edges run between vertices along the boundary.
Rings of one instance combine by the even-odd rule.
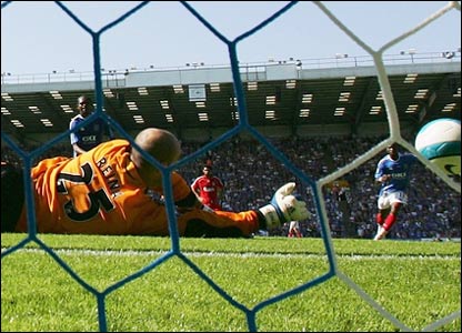
[[[382,185],[379,191],[376,214],[378,231],[375,241],[383,239],[396,222],[396,215],[401,206],[408,203],[406,188],[411,175],[412,165],[419,161],[411,153],[400,153],[398,144],[386,147],[386,155],[383,157],[375,170],[375,181]]]

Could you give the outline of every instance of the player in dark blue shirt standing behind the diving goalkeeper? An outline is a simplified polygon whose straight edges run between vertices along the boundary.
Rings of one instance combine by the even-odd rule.
[[[93,113],[93,102],[89,97],[81,95],[77,100],[77,109],[79,114],[73,117],[69,123],[69,129],[73,130],[76,127]],[[96,119],[91,123],[80,128],[70,135],[73,157],[82,154],[90,149],[103,142],[104,137],[113,139],[112,131],[109,125],[104,123],[101,118]]]

